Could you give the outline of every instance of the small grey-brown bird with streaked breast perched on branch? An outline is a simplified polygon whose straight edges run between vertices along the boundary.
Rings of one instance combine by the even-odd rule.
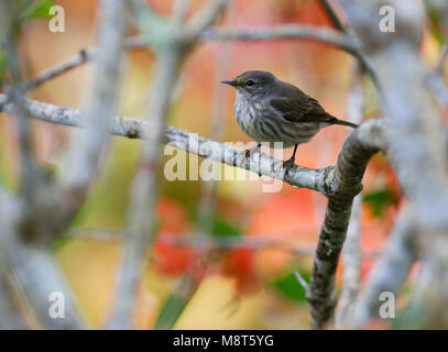
[[[258,142],[254,150],[247,151],[247,157],[262,142],[270,146],[282,142],[283,148],[294,145],[293,155],[285,162],[288,169],[294,164],[297,145],[308,142],[320,129],[331,124],[358,127],[335,118],[316,99],[264,70],[249,70],[221,84],[236,89],[233,113],[243,132]]]

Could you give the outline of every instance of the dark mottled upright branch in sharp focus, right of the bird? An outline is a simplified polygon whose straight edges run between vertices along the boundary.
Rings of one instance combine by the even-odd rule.
[[[361,191],[362,176],[371,156],[384,150],[386,121],[370,120],[354,130],[342,145],[329,183],[328,206],[313,266],[307,295],[312,324],[323,328],[336,306],[335,274],[346,239],[353,197]]]

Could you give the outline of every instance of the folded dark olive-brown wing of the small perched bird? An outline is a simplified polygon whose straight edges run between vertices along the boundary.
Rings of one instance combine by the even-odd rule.
[[[332,117],[320,107],[316,99],[299,89],[292,97],[272,98],[270,102],[289,122],[329,122],[332,120]]]

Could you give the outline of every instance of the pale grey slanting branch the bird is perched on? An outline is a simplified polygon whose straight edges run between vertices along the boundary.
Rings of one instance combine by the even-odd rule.
[[[30,118],[68,127],[86,127],[88,116],[83,110],[64,108],[29,98],[24,98],[23,101]],[[6,101],[6,96],[0,94],[0,111],[11,113],[11,102]],[[110,133],[129,139],[146,139],[147,131],[151,129],[153,129],[151,121],[114,117],[110,127]],[[260,152],[252,153],[249,158],[245,158],[243,148],[229,143],[218,143],[172,127],[166,128],[162,142],[192,154],[209,157],[218,163],[251,170],[256,175],[261,174],[284,180],[295,188],[317,190],[324,196],[327,195],[327,182],[334,168],[329,166],[323,169],[314,169],[293,166],[289,173],[285,175],[283,161],[281,160],[270,157]]]

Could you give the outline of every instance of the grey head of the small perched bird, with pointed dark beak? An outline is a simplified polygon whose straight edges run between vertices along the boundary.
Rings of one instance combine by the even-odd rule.
[[[221,84],[232,86],[237,94],[258,97],[267,94],[275,84],[275,76],[264,70],[248,70],[232,80],[222,80]]]

